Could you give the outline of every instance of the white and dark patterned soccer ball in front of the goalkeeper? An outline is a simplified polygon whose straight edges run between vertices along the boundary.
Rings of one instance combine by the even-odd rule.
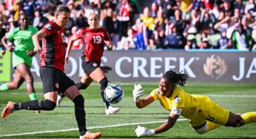
[[[104,97],[110,104],[117,104],[124,98],[124,90],[118,84],[110,84],[104,90]]]

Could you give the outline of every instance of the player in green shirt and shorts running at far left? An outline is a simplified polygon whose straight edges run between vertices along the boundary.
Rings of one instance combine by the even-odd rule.
[[[1,43],[9,51],[13,52],[13,68],[14,78],[13,81],[5,84],[1,84],[0,91],[9,89],[18,89],[21,84],[26,81],[27,93],[30,100],[37,100],[36,91],[33,84],[33,75],[30,72],[32,65],[32,57],[36,54],[34,52],[34,45],[32,41],[32,35],[38,32],[36,27],[28,24],[28,17],[25,13],[21,13],[18,16],[19,27],[10,33],[6,33],[1,38]],[[7,41],[13,41],[14,45],[7,45]],[[38,113],[40,111],[36,111]]]

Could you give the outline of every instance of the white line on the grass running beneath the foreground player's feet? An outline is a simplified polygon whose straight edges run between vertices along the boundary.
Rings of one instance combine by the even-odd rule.
[[[185,121],[186,118],[179,118],[178,121]],[[141,123],[122,123],[122,124],[115,124],[110,126],[95,126],[95,127],[88,127],[87,129],[104,129],[110,127],[118,127],[118,126],[132,126],[132,125],[140,125],[140,124],[150,124],[150,123],[164,123],[166,121],[152,121],[152,122],[141,122]],[[44,132],[27,132],[27,133],[18,133],[18,134],[11,134],[11,135],[0,135],[1,137],[11,137],[11,136],[19,136],[19,135],[35,135],[35,134],[42,134],[42,133],[53,133],[53,132],[69,132],[75,131],[78,128],[73,129],[61,129],[61,130],[51,130],[51,131],[44,131]]]

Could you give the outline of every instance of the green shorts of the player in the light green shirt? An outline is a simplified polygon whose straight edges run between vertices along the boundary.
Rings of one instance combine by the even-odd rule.
[[[16,69],[16,66],[21,63],[27,64],[28,67],[32,66],[32,57],[27,55],[27,52],[15,51],[13,52],[13,68]]]

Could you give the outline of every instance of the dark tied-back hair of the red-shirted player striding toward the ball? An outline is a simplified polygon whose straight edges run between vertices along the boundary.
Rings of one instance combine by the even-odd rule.
[[[50,16],[54,16],[57,13],[71,13],[70,8],[65,6],[64,4],[55,5],[55,4],[49,4],[47,7],[48,13]]]

